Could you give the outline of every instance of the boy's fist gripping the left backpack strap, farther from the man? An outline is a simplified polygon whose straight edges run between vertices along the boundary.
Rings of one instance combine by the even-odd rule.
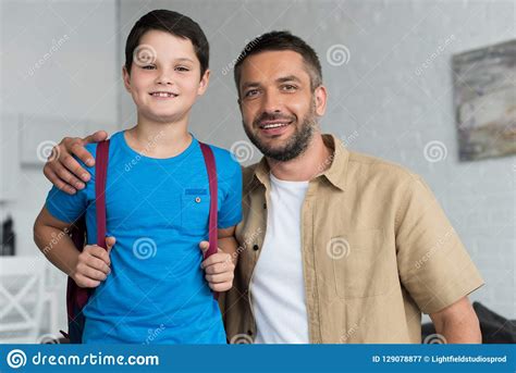
[[[78,287],[97,287],[111,273],[109,254],[115,244],[114,237],[106,237],[108,250],[97,245],[86,245],[78,254],[77,264],[70,275]]]

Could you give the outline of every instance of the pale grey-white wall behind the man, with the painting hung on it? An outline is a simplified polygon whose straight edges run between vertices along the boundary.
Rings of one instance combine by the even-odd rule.
[[[122,34],[160,8],[193,17],[210,41],[211,84],[191,126],[198,138],[226,148],[246,140],[231,70],[246,41],[271,29],[303,37],[330,92],[323,129],[421,174],[486,279],[471,298],[516,319],[515,158],[458,162],[451,72],[452,54],[516,37],[514,1],[124,1]],[[335,45],[349,51],[340,66],[327,58]],[[440,162],[425,157],[432,140],[445,146]],[[255,150],[247,163],[258,159]]]

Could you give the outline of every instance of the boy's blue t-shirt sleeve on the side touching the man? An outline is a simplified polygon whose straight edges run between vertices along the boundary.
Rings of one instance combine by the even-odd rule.
[[[229,164],[232,173],[221,182],[220,189],[224,190],[224,198],[219,209],[219,228],[228,228],[242,221],[242,167],[231,160]]]

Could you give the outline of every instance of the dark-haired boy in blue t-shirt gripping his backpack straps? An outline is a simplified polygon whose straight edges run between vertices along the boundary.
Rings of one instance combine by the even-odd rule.
[[[218,302],[210,293],[231,288],[233,263],[210,257],[208,176],[199,142],[187,132],[189,113],[209,82],[209,46],[197,23],[158,10],[133,27],[125,46],[123,79],[137,108],[137,124],[110,139],[106,185],[108,251],[82,253],[67,227],[86,211],[88,244],[95,241],[95,167],[86,187],[70,196],[53,187],[36,220],[36,244],[62,237],[48,259],[78,286],[96,288],[84,308],[83,343],[223,344]],[[218,170],[219,246],[236,250],[242,219],[242,174],[223,149],[211,147]],[[89,145],[91,154],[96,145]],[[201,243],[206,249],[207,243]],[[234,256],[233,256],[234,257]],[[211,261],[210,261],[211,260]],[[210,261],[210,262],[208,262]],[[159,331],[159,332],[156,332]]]

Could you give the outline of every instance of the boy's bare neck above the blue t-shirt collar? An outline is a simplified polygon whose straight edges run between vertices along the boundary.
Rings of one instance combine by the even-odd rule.
[[[138,117],[138,124],[126,130],[125,140],[135,151],[150,158],[171,158],[192,144],[187,123],[158,123]]]

